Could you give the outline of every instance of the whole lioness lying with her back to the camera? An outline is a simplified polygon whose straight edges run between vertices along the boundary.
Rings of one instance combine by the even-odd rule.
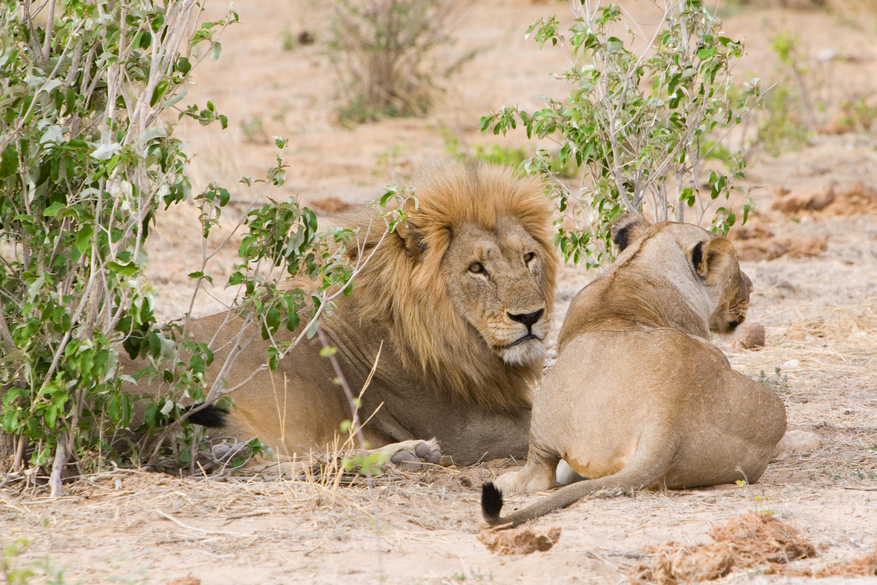
[[[756,481],[783,437],[782,401],[707,341],[743,322],[751,282],[730,242],[625,215],[621,250],[573,300],[536,395],[527,465],[484,484],[491,525],[517,525],[603,489]],[[565,460],[592,478],[501,517],[501,490],[546,490]]]

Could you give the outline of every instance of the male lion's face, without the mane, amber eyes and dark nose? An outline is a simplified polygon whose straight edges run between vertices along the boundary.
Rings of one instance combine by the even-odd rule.
[[[441,270],[458,313],[503,361],[528,365],[543,359],[550,329],[545,265],[540,246],[510,218],[494,230],[473,223],[457,228]]]

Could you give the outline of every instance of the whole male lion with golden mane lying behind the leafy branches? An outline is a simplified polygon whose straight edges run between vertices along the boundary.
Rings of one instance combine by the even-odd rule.
[[[360,410],[372,447],[403,454],[395,446],[407,441],[399,448],[435,462],[435,443],[424,442],[435,438],[458,464],[523,456],[557,270],[544,186],[497,166],[446,163],[415,187],[417,206],[393,233],[384,236],[375,209],[341,219],[359,228],[370,259],[322,330],[354,392],[380,350]],[[239,331],[225,318],[190,325],[195,339],[218,348],[211,381]],[[245,350],[228,387],[265,362],[266,344]],[[236,390],[223,434],[257,436],[281,456],[328,450],[351,412],[320,349],[316,338],[305,341],[276,372],[262,370]]]

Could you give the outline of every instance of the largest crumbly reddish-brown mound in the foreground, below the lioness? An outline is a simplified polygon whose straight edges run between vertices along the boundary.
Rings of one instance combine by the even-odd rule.
[[[635,569],[634,582],[694,583],[718,579],[732,570],[776,565],[816,556],[816,548],[788,524],[770,514],[749,512],[731,518],[710,532],[714,542],[694,547],[675,542],[646,552],[655,555],[651,566]]]

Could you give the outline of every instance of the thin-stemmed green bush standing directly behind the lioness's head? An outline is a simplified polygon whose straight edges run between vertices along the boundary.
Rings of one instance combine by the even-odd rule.
[[[728,152],[722,153],[725,164],[705,160],[761,96],[758,80],[732,91],[730,67],[742,43],[720,32],[721,22],[700,0],[663,9],[654,35],[645,35],[617,5],[583,0],[569,8],[575,20],[568,34],[556,17],[528,30],[540,47],[568,51],[571,67],[558,77],[571,85],[569,98],[542,98],[546,106],[535,112],[503,108],[481,119],[482,131],[505,134],[520,123],[529,137],[552,137],[561,144],[561,163],[583,169],[583,180],[570,184],[557,176],[544,149],[525,163],[554,186],[562,216],[556,241],[564,257],[589,266],[610,259],[612,220],[625,211],[641,213],[646,204],[658,221],[691,219],[726,233],[737,212],[727,205],[712,216],[707,211],[716,200],[728,200],[745,162]],[[616,36],[622,30],[627,41]],[[700,192],[702,183],[707,193]],[[751,200],[743,205],[743,221],[752,207]],[[686,217],[686,208],[694,217]]]

